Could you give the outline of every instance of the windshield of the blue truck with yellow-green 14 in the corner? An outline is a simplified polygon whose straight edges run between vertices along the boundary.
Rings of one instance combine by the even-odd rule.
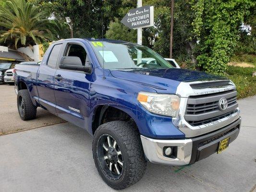
[[[173,68],[158,53],[145,46],[130,43],[112,43],[106,41],[90,42],[96,56],[105,69],[137,70]],[[103,47],[104,46],[104,47]]]

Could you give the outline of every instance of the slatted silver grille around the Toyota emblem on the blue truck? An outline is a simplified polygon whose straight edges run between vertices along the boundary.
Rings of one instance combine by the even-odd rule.
[[[215,94],[190,96],[188,98],[185,120],[192,126],[203,125],[226,117],[238,107],[237,92],[235,90],[219,92]],[[219,109],[219,99],[226,98],[228,107],[222,111]]]

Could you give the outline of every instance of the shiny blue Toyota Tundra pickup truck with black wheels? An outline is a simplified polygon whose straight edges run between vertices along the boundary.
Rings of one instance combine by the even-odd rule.
[[[222,152],[240,131],[232,81],[173,68],[133,43],[60,40],[40,66],[16,64],[14,80],[21,119],[36,118],[41,107],[89,132],[98,173],[114,189],[140,180],[147,161],[193,164]]]

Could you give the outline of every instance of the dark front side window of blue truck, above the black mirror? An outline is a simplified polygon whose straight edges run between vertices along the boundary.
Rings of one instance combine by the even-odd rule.
[[[88,57],[87,57],[85,48],[83,48],[81,45],[77,45],[77,44],[69,44],[67,46],[67,49],[66,49],[66,52],[65,52],[64,56],[79,57],[83,66],[88,61]]]

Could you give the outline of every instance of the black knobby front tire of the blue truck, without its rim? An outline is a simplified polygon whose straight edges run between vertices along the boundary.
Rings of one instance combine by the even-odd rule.
[[[111,135],[119,144],[123,156],[122,176],[118,180],[110,179],[100,166],[97,155],[98,140],[103,134]],[[113,189],[127,188],[139,181],[146,171],[146,159],[135,123],[131,121],[111,121],[98,127],[92,144],[95,166],[101,178]]]

